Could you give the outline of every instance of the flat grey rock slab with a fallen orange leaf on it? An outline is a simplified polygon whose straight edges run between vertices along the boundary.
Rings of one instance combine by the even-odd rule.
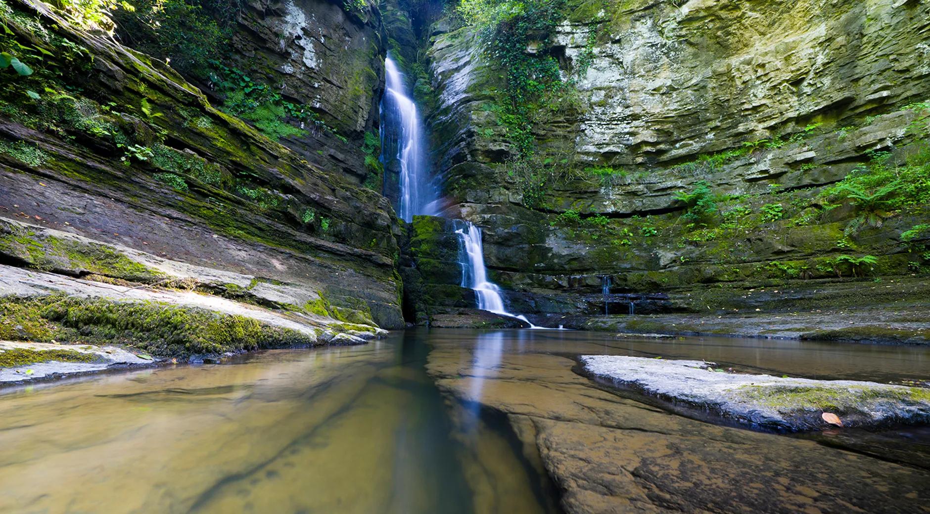
[[[844,427],[930,422],[930,389],[860,382],[727,373],[714,362],[585,355],[592,376],[642,389],[671,402],[703,408],[759,428],[829,428],[823,413]]]

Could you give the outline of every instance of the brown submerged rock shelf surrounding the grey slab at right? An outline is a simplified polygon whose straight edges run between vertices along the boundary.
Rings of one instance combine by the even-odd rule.
[[[866,436],[799,439],[675,415],[642,397],[598,387],[572,371],[576,361],[565,353],[664,348],[723,355],[728,345],[736,349],[747,345],[745,340],[611,344],[596,335],[496,332],[479,336],[471,347],[468,337],[433,339],[430,374],[451,397],[507,416],[527,458],[538,459],[556,482],[567,512],[793,513],[831,512],[839,506],[922,512],[930,499],[925,487],[930,470],[919,456],[930,455],[926,447],[896,451],[882,441],[862,444]],[[772,348],[790,354],[797,344],[806,343]],[[821,362],[829,354],[817,348],[800,351],[796,369],[811,373],[817,366],[829,367],[828,361]],[[751,345],[727,355],[742,362],[778,362],[775,353]],[[840,355],[830,354],[830,359],[836,362],[834,372],[855,375],[844,368]],[[854,451],[838,452],[834,445]]]

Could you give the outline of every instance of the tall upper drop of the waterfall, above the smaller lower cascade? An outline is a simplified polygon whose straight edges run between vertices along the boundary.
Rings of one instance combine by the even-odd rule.
[[[430,177],[423,124],[417,105],[407,91],[404,75],[390,55],[384,59],[384,69],[387,90],[381,100],[382,160],[394,150],[393,158],[400,163],[397,213],[410,222],[417,215],[435,215],[438,194]],[[387,134],[393,137],[388,138]],[[396,148],[389,149],[389,146]]]

